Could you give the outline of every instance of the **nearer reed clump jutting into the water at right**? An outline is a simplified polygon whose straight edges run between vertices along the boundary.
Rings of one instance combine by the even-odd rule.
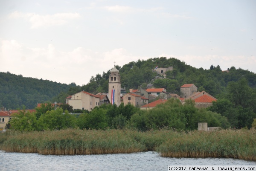
[[[225,157],[256,160],[256,130],[190,131],[168,139],[157,151],[162,157]]]

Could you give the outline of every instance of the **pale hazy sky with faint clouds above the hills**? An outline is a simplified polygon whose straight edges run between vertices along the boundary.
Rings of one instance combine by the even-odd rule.
[[[256,1],[0,0],[0,72],[82,86],[162,56],[256,73]]]

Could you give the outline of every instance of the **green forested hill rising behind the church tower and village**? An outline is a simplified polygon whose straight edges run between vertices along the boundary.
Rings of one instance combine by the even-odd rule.
[[[157,72],[152,70],[156,67],[167,68],[172,66],[172,71],[166,72],[166,78],[154,79]],[[127,91],[130,88],[146,89],[148,84],[153,84],[155,88],[166,88],[169,93],[177,93],[180,95],[180,86],[183,84],[195,84],[199,91],[205,90],[212,96],[218,98],[218,95],[225,92],[228,82],[239,81],[245,78],[251,88],[256,87],[256,74],[241,68],[236,69],[230,66],[229,69],[221,69],[220,66],[209,66],[208,70],[203,68],[191,67],[185,62],[176,58],[150,58],[146,61],[138,60],[130,62],[122,67],[116,66],[121,75],[121,87]],[[222,72],[228,70],[228,72]],[[90,93],[108,92],[108,72],[103,72],[92,76],[90,82],[83,87],[82,90]]]

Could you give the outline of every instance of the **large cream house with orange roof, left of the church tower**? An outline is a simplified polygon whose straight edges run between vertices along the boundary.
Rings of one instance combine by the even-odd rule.
[[[82,110],[93,110],[94,107],[99,106],[100,97],[94,94],[88,93],[86,91],[81,91],[71,96],[71,99],[68,101],[70,106],[73,106],[73,109],[82,109]]]

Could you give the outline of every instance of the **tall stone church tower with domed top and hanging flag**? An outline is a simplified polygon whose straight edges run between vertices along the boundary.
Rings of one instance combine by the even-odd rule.
[[[108,96],[111,104],[119,106],[121,104],[121,77],[116,65],[110,71],[108,80]]]

